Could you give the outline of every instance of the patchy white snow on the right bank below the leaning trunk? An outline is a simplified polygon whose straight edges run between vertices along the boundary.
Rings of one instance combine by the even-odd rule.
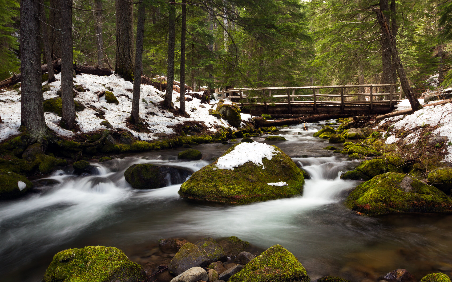
[[[423,103],[423,99],[419,99],[419,102]],[[440,101],[434,101],[440,102]],[[399,103],[399,110],[410,107],[410,102],[408,99],[402,100]],[[380,125],[384,124],[387,121],[396,121],[394,124],[395,129],[414,129],[417,126],[431,125],[437,126],[431,135],[439,134],[440,136],[446,136],[449,140],[446,141],[447,152],[448,154],[444,157],[444,161],[452,162],[452,104],[447,103],[445,105],[438,106],[428,106],[428,104],[423,105],[424,108],[414,112],[411,115],[403,116],[394,116],[391,118],[387,118],[381,120]],[[384,132],[384,134],[391,134],[391,132]],[[410,140],[410,142],[415,142],[417,140],[413,139],[414,134],[410,134],[406,136],[405,140]],[[399,138],[396,138],[394,135],[389,136],[386,139],[386,144],[392,144],[399,141]]]

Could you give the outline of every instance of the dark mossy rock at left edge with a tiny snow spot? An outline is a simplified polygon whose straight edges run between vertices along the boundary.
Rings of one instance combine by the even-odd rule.
[[[33,184],[27,177],[0,169],[0,200],[14,199],[26,194]]]

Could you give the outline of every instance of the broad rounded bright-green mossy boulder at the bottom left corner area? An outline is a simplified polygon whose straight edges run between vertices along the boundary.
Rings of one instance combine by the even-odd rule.
[[[88,246],[54,255],[42,282],[135,282],[144,278],[142,267],[122,250]]]

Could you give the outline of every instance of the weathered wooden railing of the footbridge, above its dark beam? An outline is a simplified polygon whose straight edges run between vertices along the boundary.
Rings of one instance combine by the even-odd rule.
[[[320,89],[339,88],[340,93],[320,93]],[[346,93],[347,88],[370,88],[370,93]],[[374,88],[376,91],[374,92]],[[389,88],[389,92],[377,92],[378,88]],[[374,105],[392,106],[400,102],[400,92],[396,92],[397,83],[387,84],[354,84],[354,85],[323,85],[323,86],[301,86],[301,87],[259,87],[259,88],[230,88],[227,91],[221,91],[223,99],[239,100],[241,106],[288,106],[289,110],[292,106],[313,106],[314,110],[317,106],[340,106],[344,109],[346,105],[362,105],[370,106],[370,110]],[[312,90],[312,94],[295,94],[297,89]],[[277,92],[285,93],[281,95]],[[256,93],[257,92],[257,93]],[[272,95],[273,92],[273,95]],[[292,95],[291,95],[292,94]],[[387,97],[386,100],[376,100],[376,97]],[[312,98],[312,101],[295,101],[296,98]],[[340,101],[330,101],[330,98]],[[369,97],[369,100],[347,100],[346,97]],[[320,100],[321,99],[321,100]],[[326,99],[326,100],[325,100]]]

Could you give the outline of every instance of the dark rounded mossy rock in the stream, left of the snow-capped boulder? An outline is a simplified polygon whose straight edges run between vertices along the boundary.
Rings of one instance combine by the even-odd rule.
[[[134,189],[155,189],[166,186],[166,182],[162,179],[160,172],[160,166],[150,163],[139,163],[129,166],[124,171],[124,177]]]

